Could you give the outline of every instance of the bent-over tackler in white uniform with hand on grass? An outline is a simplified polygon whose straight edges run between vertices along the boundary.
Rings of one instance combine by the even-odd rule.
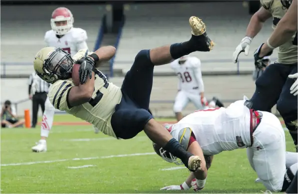
[[[271,191],[285,191],[297,171],[297,154],[295,163],[286,169],[285,137],[279,119],[250,106],[251,101],[238,100],[227,108],[198,110],[168,128],[185,149],[202,158],[199,170],[191,172],[181,189],[189,188],[193,178],[195,190],[204,187],[213,155],[247,148],[249,163],[263,185]],[[161,146],[153,143],[153,147],[164,160],[181,164]]]

